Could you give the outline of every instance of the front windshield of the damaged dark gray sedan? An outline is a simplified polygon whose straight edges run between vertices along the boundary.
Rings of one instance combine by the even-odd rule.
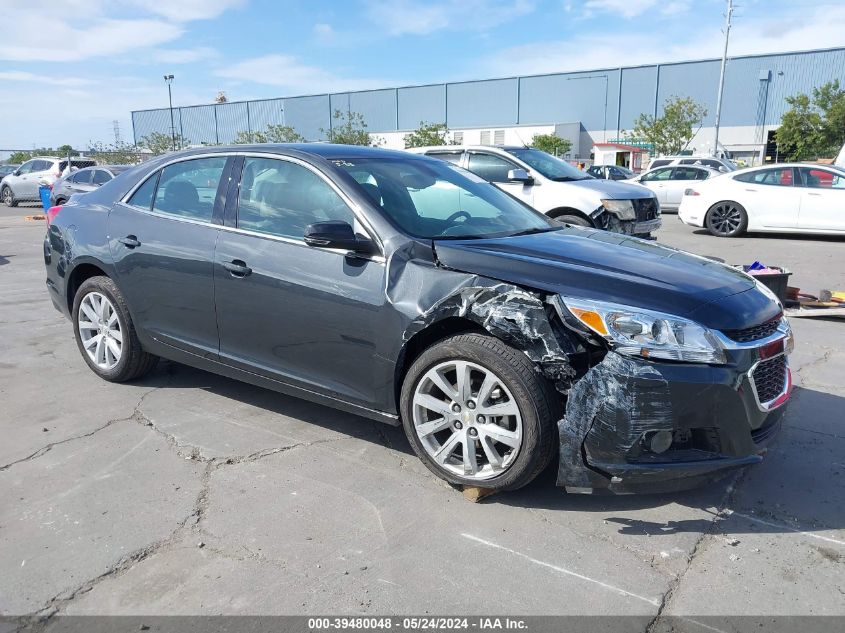
[[[495,185],[451,163],[415,158],[331,161],[403,231],[425,239],[504,237],[559,227]]]

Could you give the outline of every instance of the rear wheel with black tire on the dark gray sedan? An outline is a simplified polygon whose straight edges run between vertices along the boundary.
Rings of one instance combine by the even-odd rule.
[[[104,304],[108,306],[105,310]],[[79,353],[103,380],[134,380],[149,373],[158,362],[157,356],[141,347],[126,301],[108,277],[91,277],[82,283],[73,299],[71,315]],[[83,327],[82,323],[88,327]],[[108,332],[105,339],[103,332]],[[105,342],[97,342],[97,336]],[[103,362],[98,362],[99,359]]]

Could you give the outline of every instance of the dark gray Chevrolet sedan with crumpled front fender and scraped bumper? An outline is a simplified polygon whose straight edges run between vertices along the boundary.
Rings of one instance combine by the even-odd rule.
[[[401,424],[457,484],[558,456],[567,490],[688,487],[760,461],[790,394],[792,334],[751,277],[424,156],[191,150],[48,222],[50,296],[102,378],[164,357]]]

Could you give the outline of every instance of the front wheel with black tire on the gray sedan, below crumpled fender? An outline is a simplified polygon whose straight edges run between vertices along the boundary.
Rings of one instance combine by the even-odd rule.
[[[459,381],[466,368],[470,380]],[[464,394],[462,382],[469,385]],[[428,348],[408,370],[400,398],[405,434],[431,472],[493,490],[521,488],[549,464],[560,408],[557,392],[525,354],[483,334]]]

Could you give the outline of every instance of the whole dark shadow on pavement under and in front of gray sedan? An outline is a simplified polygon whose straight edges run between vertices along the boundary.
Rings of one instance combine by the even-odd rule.
[[[401,427],[338,412],[186,365],[162,362],[139,384],[162,389],[201,389],[413,456]],[[594,513],[597,521],[617,525],[621,535],[701,533],[712,529],[717,515],[725,520],[733,517],[733,531],[794,533],[843,529],[845,432],[837,424],[843,410],[845,398],[841,396],[796,388],[781,433],[763,462],[694,490],[640,495],[566,494],[556,486],[558,464],[553,460],[528,486],[493,495],[484,503],[547,512]],[[695,518],[665,522],[642,518],[643,511],[673,504],[686,506]],[[636,513],[637,517],[628,513]]]

